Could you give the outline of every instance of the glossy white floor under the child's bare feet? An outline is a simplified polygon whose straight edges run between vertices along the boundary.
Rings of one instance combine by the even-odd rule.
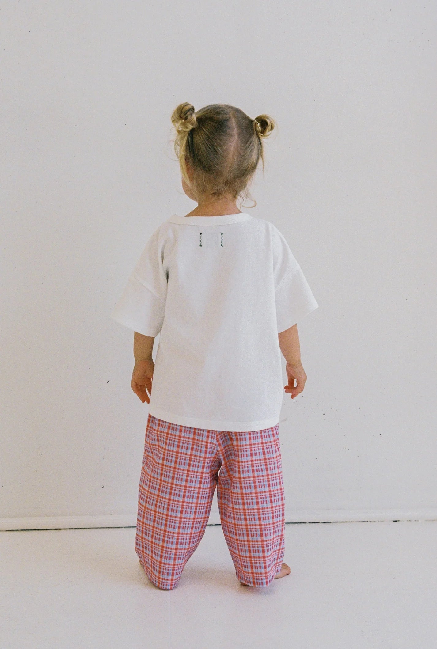
[[[208,526],[173,591],[135,528],[0,532],[1,649],[434,649],[437,521],[286,525],[291,574],[236,579]]]

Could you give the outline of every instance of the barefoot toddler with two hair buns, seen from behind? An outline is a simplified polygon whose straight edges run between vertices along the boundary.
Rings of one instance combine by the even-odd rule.
[[[306,382],[297,322],[318,304],[277,227],[237,207],[260,160],[264,168],[275,121],[189,103],[171,121],[182,188],[197,207],[151,234],[111,313],[134,330],[131,387],[149,404],[135,550],[149,580],[173,589],[217,488],[236,577],[265,587],[290,574],[281,352],[295,398]]]

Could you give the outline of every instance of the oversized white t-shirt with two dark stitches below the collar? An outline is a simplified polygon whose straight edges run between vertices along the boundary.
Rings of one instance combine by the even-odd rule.
[[[145,336],[160,334],[151,415],[248,431],[279,422],[278,333],[316,308],[281,232],[242,212],[164,221],[110,315]]]

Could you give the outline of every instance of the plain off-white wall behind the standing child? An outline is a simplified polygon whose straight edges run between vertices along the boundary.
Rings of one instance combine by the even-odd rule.
[[[284,394],[287,520],[436,518],[436,14],[3,5],[3,529],[135,524],[147,404],[109,314],[153,230],[195,207],[182,101],[279,127],[242,209],[282,231],[319,303],[305,391]]]

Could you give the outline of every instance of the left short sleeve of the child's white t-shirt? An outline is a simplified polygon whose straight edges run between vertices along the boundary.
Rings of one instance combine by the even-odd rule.
[[[168,274],[159,227],[147,241],[110,317],[144,336],[155,337],[164,322]]]

